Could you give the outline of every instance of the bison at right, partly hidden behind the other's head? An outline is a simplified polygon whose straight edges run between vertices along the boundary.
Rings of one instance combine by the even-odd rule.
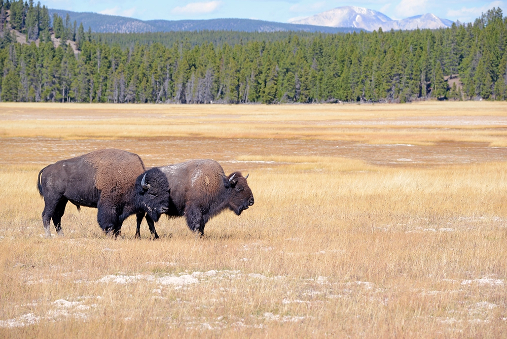
[[[169,209],[165,213],[170,217],[185,216],[189,228],[199,231],[201,236],[211,217],[225,209],[240,215],[253,205],[253,194],[246,183],[248,176],[243,177],[239,172],[226,176],[214,160],[190,160],[155,168],[165,174],[171,188]],[[146,220],[150,229],[154,229],[149,216]],[[139,224],[138,220],[137,237],[140,237]]]

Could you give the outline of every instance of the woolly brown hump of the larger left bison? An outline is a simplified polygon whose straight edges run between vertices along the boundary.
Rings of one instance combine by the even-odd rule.
[[[95,168],[95,186],[102,193],[125,193],[135,186],[136,178],[145,171],[141,158],[134,153],[104,149],[85,155]]]

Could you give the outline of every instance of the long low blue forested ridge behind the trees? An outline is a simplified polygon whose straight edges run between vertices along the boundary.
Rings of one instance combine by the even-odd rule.
[[[139,20],[115,15],[97,14],[91,12],[71,12],[49,9],[65,19],[68,14],[70,21],[83,23],[85,30],[91,27],[99,33],[144,33],[168,31],[199,31],[199,30],[236,30],[245,32],[275,32],[275,31],[305,31],[322,33],[349,33],[360,31],[354,27],[328,27],[308,24],[281,23],[250,19],[211,19],[211,20]]]

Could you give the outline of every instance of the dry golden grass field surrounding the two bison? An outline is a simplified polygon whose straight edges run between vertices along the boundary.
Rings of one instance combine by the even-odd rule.
[[[40,169],[112,147],[215,159],[256,203],[157,241],[69,204],[44,239]],[[0,103],[0,182],[2,338],[507,335],[505,103]]]

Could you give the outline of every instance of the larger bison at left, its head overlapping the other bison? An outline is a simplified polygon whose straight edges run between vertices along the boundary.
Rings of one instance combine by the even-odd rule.
[[[132,214],[140,223],[145,213],[156,221],[168,210],[169,186],[160,169],[146,171],[137,154],[117,149],[94,151],[48,165],[39,172],[37,186],[44,197],[42,221],[48,238],[51,219],[58,235],[63,235],[60,222],[68,201],[78,210],[80,206],[98,208],[98,224],[115,236]],[[151,225],[150,231],[155,232]]]

